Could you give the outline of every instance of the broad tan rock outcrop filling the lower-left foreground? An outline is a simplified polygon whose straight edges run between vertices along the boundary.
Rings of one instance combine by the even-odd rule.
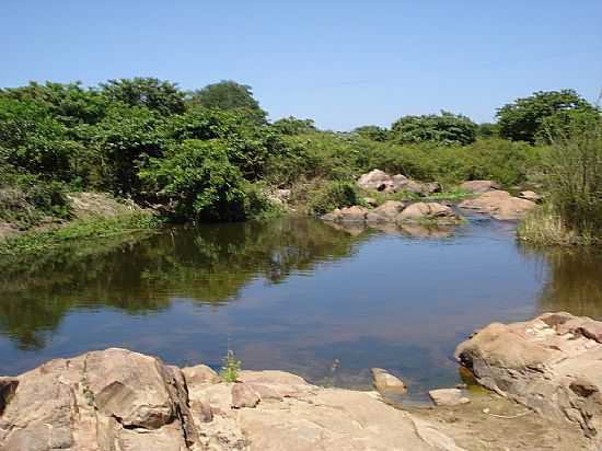
[[[462,451],[373,392],[322,389],[281,371],[217,382],[125,349],[0,378],[2,451]]]

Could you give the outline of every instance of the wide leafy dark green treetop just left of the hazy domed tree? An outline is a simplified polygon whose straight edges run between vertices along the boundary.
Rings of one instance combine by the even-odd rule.
[[[177,84],[155,78],[108,80],[100,84],[102,93],[112,102],[129,106],[146,106],[163,115],[184,112],[184,92]]]

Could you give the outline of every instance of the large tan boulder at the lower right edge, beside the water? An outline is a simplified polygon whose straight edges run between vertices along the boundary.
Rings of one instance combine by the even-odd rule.
[[[557,421],[572,421],[602,449],[602,323],[546,313],[494,323],[456,349],[486,388]]]

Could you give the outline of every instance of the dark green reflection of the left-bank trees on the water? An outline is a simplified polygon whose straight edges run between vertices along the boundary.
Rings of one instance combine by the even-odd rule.
[[[0,265],[0,329],[21,349],[43,348],[65,314],[109,307],[144,314],[174,297],[220,304],[257,277],[278,284],[325,259],[352,254],[356,240],[314,220],[176,228],[140,241],[62,248]]]

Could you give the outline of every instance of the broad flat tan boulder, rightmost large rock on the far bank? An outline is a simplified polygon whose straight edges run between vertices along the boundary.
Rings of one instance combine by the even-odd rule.
[[[463,200],[459,206],[488,213],[500,221],[510,221],[523,218],[536,205],[531,200],[512,197],[508,192],[494,190]]]

